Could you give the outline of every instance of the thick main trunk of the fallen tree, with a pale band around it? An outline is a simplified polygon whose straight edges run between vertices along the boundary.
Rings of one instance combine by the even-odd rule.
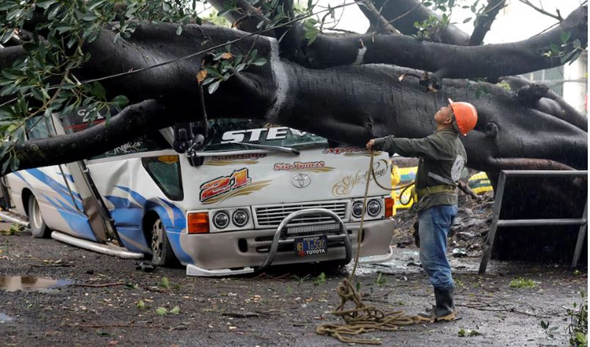
[[[131,40],[117,44],[103,35],[88,47],[92,59],[78,71],[78,76],[92,78],[138,70],[185,56],[194,51],[195,42],[205,37],[212,39],[210,44],[224,44],[245,35],[214,26],[187,26],[180,36],[175,32],[174,25],[144,26],[137,29]],[[172,40],[174,44],[170,44]],[[484,171],[587,168],[587,124],[582,124],[581,128],[567,119],[542,112],[537,108],[538,103],[523,103],[516,92],[508,92],[503,87],[446,80],[443,89],[432,94],[419,86],[418,78],[407,76],[400,81],[403,73],[420,75],[421,71],[386,65],[310,69],[281,60],[276,40],[267,37],[244,37],[234,44],[233,52],[246,53],[253,44],[261,56],[269,57],[269,63],[250,67],[222,83],[214,94],[206,95],[209,117],[264,118],[338,142],[362,146],[367,139],[376,136],[423,137],[432,133],[435,129],[432,116],[450,97],[469,101],[478,109],[478,125],[469,136],[462,138],[469,167]],[[198,110],[202,105],[196,97],[199,87],[195,76],[201,69],[200,61],[198,56],[178,60],[129,76],[110,78],[103,81],[103,85],[112,95],[128,95],[132,103],[158,99],[167,108],[174,106],[174,112],[160,126],[174,124],[179,117],[187,119],[191,114],[194,121],[199,121]],[[478,99],[475,91],[481,86],[489,92],[482,93]],[[115,130],[121,133],[120,139],[113,140],[115,136],[105,141],[117,146],[128,139],[123,135],[129,130],[122,125]],[[44,142],[38,144],[37,149],[43,151],[44,145],[49,146]],[[87,158],[98,153],[91,149],[69,154],[62,160]],[[48,164],[42,162],[42,157],[39,160],[31,165]]]

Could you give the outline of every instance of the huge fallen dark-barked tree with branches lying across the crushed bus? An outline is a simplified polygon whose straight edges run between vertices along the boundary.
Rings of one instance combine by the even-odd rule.
[[[398,34],[317,33],[310,38],[289,3],[280,7],[287,9],[280,20],[267,20],[262,28],[283,37],[280,43],[259,33],[199,24],[138,24],[133,33],[121,35],[121,25],[106,22],[87,36],[92,40],[74,35],[77,41],[66,44],[62,56],[82,57],[80,62],[60,61],[51,76],[39,78],[38,87],[27,87],[23,81],[35,60],[51,62],[49,54],[56,48],[49,43],[56,37],[72,41],[69,31],[60,33],[55,25],[47,25],[52,10],[67,10],[48,2],[45,8],[33,6],[34,15],[19,22],[19,33],[31,33],[30,40],[13,40],[14,45],[0,49],[0,130],[5,138],[22,133],[17,126],[33,115],[71,112],[99,105],[93,103],[98,99],[105,105],[119,103],[120,98],[112,101],[119,95],[126,96],[129,105],[110,124],[76,135],[17,142],[14,147],[7,142],[3,161],[11,164],[3,166],[5,173],[87,158],[150,127],[202,121],[203,111],[209,118],[264,118],[358,146],[387,134],[422,137],[432,132],[432,115],[448,97],[473,103],[480,115],[475,130],[464,138],[469,167],[489,172],[587,168],[587,117],[546,88],[502,78],[564,64],[580,53],[587,45],[585,5],[536,37],[480,46],[457,45],[469,40],[447,44]],[[81,13],[93,2],[100,1],[80,5]],[[394,3],[389,1],[387,7]],[[121,11],[117,13],[120,17]],[[5,10],[2,17],[10,13]],[[5,33],[10,23],[5,22]],[[407,32],[407,24],[398,29]],[[447,36],[453,35],[455,29]],[[45,60],[39,58],[43,50]],[[236,63],[237,57],[242,58]],[[229,68],[221,71],[224,66]],[[219,89],[203,95],[199,73],[210,78],[203,83],[209,83],[210,91],[212,85]],[[506,83],[481,81],[484,78]],[[72,96],[71,90],[84,86],[86,97],[94,99]]]

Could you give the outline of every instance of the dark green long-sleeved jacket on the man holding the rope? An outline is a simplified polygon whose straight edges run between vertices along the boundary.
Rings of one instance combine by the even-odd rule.
[[[457,187],[467,163],[467,153],[454,129],[437,130],[421,139],[396,138],[393,135],[379,137],[375,139],[374,148],[387,151],[389,155],[398,153],[404,157],[419,157],[415,184],[418,192],[437,185]],[[431,196],[432,200],[424,208],[457,203],[456,189],[455,192],[439,192]]]

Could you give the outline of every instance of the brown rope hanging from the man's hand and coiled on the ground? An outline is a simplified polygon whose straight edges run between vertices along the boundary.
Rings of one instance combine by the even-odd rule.
[[[372,305],[365,305],[360,298],[360,294],[353,286],[353,279],[360,255],[360,240],[362,239],[362,233],[364,232],[362,226],[364,223],[364,214],[366,212],[366,200],[369,195],[371,176],[379,187],[392,190],[391,188],[382,187],[382,185],[377,182],[375,172],[373,171],[373,157],[373,150],[371,150],[371,159],[369,160],[370,176],[367,175],[368,177],[364,189],[362,216],[357,236],[357,252],[355,255],[353,271],[351,271],[351,275],[348,278],[342,280],[342,283],[337,286],[336,292],[340,296],[340,305],[335,311],[330,312],[330,314],[341,317],[344,320],[344,323],[326,323],[319,325],[316,328],[316,332],[319,335],[332,336],[339,341],[349,344],[379,345],[381,344],[379,339],[362,339],[354,336],[375,330],[395,331],[399,329],[400,325],[410,325],[419,321],[419,319],[416,319],[416,316],[409,316],[405,314],[404,311],[383,312]],[[352,308],[346,308],[349,302],[352,303]]]

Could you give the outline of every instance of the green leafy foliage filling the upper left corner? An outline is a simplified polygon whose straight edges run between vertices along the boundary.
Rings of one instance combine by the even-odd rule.
[[[192,3],[192,10],[190,4]],[[27,56],[1,71],[0,159],[12,170],[19,160],[12,149],[24,139],[29,119],[87,110],[89,121],[99,113],[107,119],[113,107],[124,107],[125,96],[110,96],[99,81],[80,81],[75,71],[90,59],[83,46],[101,31],[115,32],[115,41],[129,37],[148,22],[178,23],[177,34],[189,22],[200,22],[195,1],[7,0],[0,5],[0,44],[20,44]],[[42,20],[35,21],[35,16]],[[38,122],[38,120],[36,121]],[[34,123],[36,124],[36,123]]]

